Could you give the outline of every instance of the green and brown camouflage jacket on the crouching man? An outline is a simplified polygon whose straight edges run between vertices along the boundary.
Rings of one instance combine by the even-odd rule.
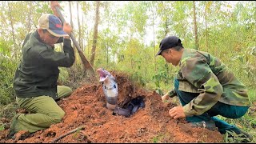
[[[176,78],[178,90],[198,93],[198,97],[183,106],[186,116],[201,115],[218,101],[234,106],[251,105],[246,86],[209,53],[184,49]]]

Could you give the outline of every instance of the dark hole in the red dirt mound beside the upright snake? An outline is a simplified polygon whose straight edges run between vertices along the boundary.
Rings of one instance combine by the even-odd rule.
[[[139,108],[144,108],[145,107],[145,102],[144,102],[143,96],[138,96],[136,98],[132,98],[130,102],[127,102],[123,107],[117,106],[114,109],[113,115],[123,115],[126,118],[130,117],[130,115],[136,113]]]

